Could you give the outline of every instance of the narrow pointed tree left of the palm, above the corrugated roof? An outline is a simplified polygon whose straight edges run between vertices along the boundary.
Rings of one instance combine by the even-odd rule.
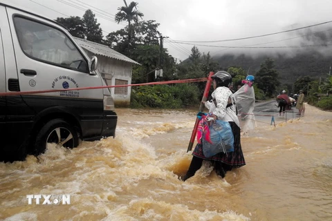
[[[95,14],[91,10],[86,10],[82,20],[85,25],[86,39],[101,44],[103,41],[102,28],[100,28],[100,23],[95,19]]]

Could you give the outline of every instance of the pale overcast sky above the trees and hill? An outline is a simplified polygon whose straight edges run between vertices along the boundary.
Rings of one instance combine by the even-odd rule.
[[[113,19],[118,12],[118,7],[124,6],[123,0],[0,1],[15,3],[15,5],[26,10],[46,15],[51,19],[66,17],[65,15],[82,17],[84,11],[90,8],[96,14],[98,22],[104,30],[104,35],[107,35],[107,32],[124,28],[124,24],[118,24]],[[190,55],[190,49],[193,45],[169,43],[167,41],[236,39],[265,35],[332,20],[332,1],[330,0],[136,0],[136,2],[138,2],[138,10],[144,13],[143,19],[156,20],[160,23],[159,31],[164,36],[169,37],[169,39],[165,39],[165,48],[169,50],[171,55],[181,60]],[[130,3],[130,1],[127,0],[127,3]],[[68,4],[72,6],[68,6]],[[324,31],[331,28],[332,23],[327,23],[317,26],[315,31]],[[251,46],[254,44],[261,44],[260,46],[295,46],[299,45],[299,39],[301,39],[295,37],[304,35],[307,31],[300,30],[242,41],[196,44],[213,46]],[[283,39],[288,40],[280,41]],[[262,44],[270,41],[277,42]],[[229,50],[207,46],[198,47],[201,52],[210,51],[212,55],[225,53]],[[262,49],[235,50],[238,52],[248,52],[248,50],[256,52]]]

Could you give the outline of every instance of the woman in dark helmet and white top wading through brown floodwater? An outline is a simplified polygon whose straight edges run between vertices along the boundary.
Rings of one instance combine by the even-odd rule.
[[[240,124],[237,117],[235,98],[229,89],[230,84],[232,84],[232,76],[225,71],[219,71],[212,76],[212,79],[214,88],[212,101],[204,102],[205,107],[212,113],[214,120],[221,119],[230,123],[234,135],[234,151],[230,153],[221,152],[212,157],[205,157],[203,154],[203,142],[197,144],[192,152],[192,162],[187,174],[181,177],[183,181],[195,175],[196,171],[201,168],[203,160],[211,161],[216,174],[222,178],[225,177],[227,171],[246,165],[241,148]]]

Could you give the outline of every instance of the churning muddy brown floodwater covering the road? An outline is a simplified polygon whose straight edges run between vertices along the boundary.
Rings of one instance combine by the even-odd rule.
[[[270,126],[274,105],[257,104],[257,127],[241,137],[247,165],[229,185],[208,164],[178,180],[196,110],[118,108],[116,139],[0,163],[0,220],[332,220],[332,113],[306,105]],[[30,194],[71,204],[29,205]]]

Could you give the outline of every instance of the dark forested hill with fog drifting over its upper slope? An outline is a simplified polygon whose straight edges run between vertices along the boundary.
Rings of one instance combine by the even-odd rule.
[[[298,77],[306,75],[319,79],[326,77],[332,64],[332,26],[298,30],[270,42],[256,39],[246,46],[264,48],[223,49],[212,52],[212,57],[223,69],[240,66],[250,75],[255,75],[261,63],[270,57],[275,60],[282,83],[293,84]]]

